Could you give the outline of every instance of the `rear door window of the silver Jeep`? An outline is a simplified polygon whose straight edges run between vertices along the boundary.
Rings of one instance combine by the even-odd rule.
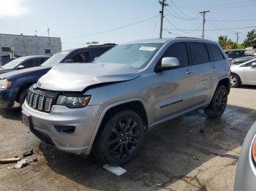
[[[209,61],[208,52],[206,50],[205,44],[197,43],[197,42],[189,42],[188,47],[189,47],[191,65],[207,63]]]

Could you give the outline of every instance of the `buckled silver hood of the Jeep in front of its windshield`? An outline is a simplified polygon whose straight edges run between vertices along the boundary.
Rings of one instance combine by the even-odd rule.
[[[138,69],[120,63],[70,63],[53,66],[37,82],[37,87],[54,91],[81,92],[86,87],[135,79]]]

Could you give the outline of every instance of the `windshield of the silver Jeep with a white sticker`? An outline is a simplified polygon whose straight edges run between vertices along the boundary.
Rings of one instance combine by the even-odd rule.
[[[143,69],[162,46],[160,43],[124,44],[113,47],[94,63],[125,63]]]

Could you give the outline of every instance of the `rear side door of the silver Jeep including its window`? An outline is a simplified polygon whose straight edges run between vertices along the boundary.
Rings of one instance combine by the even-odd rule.
[[[209,63],[206,45],[200,42],[188,42],[189,60],[191,70],[195,79],[195,106],[203,104],[208,100],[211,90],[211,65]]]

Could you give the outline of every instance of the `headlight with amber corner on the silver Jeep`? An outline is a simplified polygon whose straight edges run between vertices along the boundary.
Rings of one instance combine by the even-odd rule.
[[[59,95],[57,105],[67,106],[69,108],[79,108],[84,107],[89,104],[91,99],[90,95],[84,96],[69,96],[69,95]]]

